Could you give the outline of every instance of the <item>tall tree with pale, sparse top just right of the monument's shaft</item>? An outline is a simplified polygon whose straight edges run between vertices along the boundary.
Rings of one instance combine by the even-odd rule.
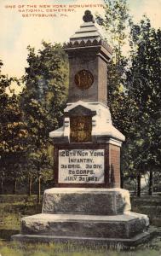
[[[105,37],[112,46],[112,60],[107,65],[107,102],[112,113],[113,125],[125,136],[129,134],[135,113],[135,103],[126,90],[126,69],[128,59],[124,56],[129,26],[129,9],[126,0],[105,0],[105,17],[97,15],[98,23],[105,29]]]

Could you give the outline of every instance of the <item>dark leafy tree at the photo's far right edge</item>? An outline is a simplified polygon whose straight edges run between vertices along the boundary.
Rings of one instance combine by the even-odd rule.
[[[129,95],[138,109],[135,127],[146,145],[141,147],[147,152],[141,161],[150,172],[149,194],[152,194],[152,173],[160,166],[161,31],[152,28],[144,16],[138,25],[131,22],[130,35]]]

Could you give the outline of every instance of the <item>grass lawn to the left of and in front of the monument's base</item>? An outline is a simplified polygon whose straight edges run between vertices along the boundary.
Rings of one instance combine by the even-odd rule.
[[[20,232],[20,218],[41,212],[36,200],[0,203],[0,256],[161,256],[161,236],[124,251],[122,247],[87,247],[77,244],[20,244],[9,241]]]

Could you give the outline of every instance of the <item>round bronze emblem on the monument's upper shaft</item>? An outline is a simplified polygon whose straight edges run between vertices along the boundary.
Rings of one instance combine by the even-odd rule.
[[[94,77],[89,70],[80,70],[75,75],[75,84],[80,90],[89,89],[89,87],[94,83]]]

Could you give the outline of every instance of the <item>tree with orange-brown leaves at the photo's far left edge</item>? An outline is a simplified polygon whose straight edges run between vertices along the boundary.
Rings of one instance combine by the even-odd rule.
[[[1,61],[1,66],[3,65]],[[9,93],[12,82],[19,81],[0,73],[0,165],[1,165],[1,192],[3,193],[3,178],[13,180],[16,190],[17,177],[22,172],[21,164],[26,155],[26,124],[22,121],[19,96],[13,90]]]

